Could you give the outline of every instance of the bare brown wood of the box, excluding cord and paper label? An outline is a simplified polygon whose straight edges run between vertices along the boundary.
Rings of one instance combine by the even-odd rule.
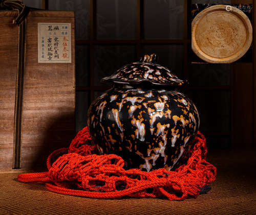
[[[0,20],[0,25],[7,22],[6,18],[3,20]],[[67,147],[75,135],[74,13],[35,11],[27,17],[21,170],[11,169],[17,71],[17,27],[11,24],[11,20],[9,18],[9,26],[5,26],[7,33],[0,37],[0,53],[9,53],[1,53],[4,58],[0,59],[0,95],[5,98],[0,106],[0,155],[4,154],[0,158],[0,172],[24,172],[45,166],[47,156],[55,149]],[[38,22],[71,23],[72,63],[37,62]]]

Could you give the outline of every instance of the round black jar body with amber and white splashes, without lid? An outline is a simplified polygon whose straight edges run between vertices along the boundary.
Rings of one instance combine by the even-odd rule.
[[[194,104],[182,93],[164,89],[119,88],[108,94],[95,103],[94,114],[88,117],[89,124],[93,124],[96,130],[93,141],[97,143],[98,151],[118,153],[127,150],[135,153],[144,160],[138,164],[140,169],[146,171],[152,170],[159,162],[162,162],[161,167],[172,169],[191,147],[189,140],[198,130],[199,117]],[[180,112],[173,112],[175,106],[180,107],[176,108]],[[106,121],[110,121],[105,127],[108,133],[103,126]]]

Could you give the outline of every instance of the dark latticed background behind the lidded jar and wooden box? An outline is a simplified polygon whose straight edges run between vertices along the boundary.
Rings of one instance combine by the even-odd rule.
[[[198,107],[200,131],[211,149],[253,147],[253,70],[245,71],[248,74],[241,84],[236,79],[244,76],[241,69],[252,68],[252,50],[238,64],[197,59],[191,51],[190,5],[234,2],[24,0],[30,7],[75,11],[76,132],[87,125],[90,103],[109,88],[100,83],[101,78],[143,54],[157,53],[162,65],[188,80],[189,86],[181,91]],[[243,93],[246,99],[240,98]]]

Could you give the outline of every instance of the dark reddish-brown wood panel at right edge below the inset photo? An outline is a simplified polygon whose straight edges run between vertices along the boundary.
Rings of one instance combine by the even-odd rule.
[[[232,71],[232,148],[253,146],[253,64],[234,63]]]

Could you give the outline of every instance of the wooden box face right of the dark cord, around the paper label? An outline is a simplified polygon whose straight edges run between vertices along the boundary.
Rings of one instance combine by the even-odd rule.
[[[38,22],[71,23],[71,63],[37,62]],[[75,134],[74,13],[30,12],[26,34],[22,169],[36,170],[52,151],[69,146]]]

